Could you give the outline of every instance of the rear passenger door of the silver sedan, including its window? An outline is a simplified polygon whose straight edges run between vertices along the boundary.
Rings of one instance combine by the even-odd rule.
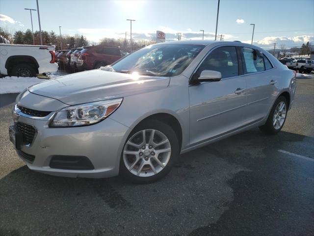
[[[240,52],[247,85],[245,119],[254,122],[268,115],[280,75],[274,73],[273,65],[261,52],[247,47],[240,47]]]

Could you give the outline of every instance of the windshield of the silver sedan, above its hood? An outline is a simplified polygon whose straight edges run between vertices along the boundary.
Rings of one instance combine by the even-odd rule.
[[[105,70],[140,75],[176,76],[202,51],[204,45],[151,45],[107,66]]]

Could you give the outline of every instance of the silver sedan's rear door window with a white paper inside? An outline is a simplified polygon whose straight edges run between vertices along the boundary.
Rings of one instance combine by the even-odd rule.
[[[257,52],[251,48],[242,48],[245,61],[246,74],[264,71],[263,57],[258,56]]]

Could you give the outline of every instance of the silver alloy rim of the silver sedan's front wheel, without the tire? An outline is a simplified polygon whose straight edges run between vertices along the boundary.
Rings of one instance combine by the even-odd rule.
[[[170,155],[171,145],[167,137],[158,130],[145,129],[128,140],[123,161],[133,175],[149,177],[165,168]]]

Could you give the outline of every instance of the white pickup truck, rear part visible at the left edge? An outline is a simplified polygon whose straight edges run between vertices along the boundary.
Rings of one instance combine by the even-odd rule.
[[[0,43],[0,74],[35,77],[36,74],[55,72],[55,46]]]

